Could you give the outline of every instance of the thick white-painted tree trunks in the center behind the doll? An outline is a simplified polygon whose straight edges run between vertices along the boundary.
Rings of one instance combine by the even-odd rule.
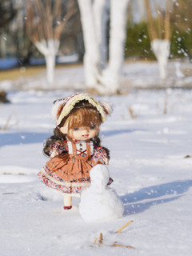
[[[129,0],[78,0],[86,53],[85,80],[88,89],[114,94],[119,89],[126,38],[126,7]],[[110,19],[109,64],[106,25]]]

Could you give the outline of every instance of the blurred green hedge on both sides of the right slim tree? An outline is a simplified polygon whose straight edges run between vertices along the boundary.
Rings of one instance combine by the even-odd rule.
[[[192,58],[192,2],[177,1],[170,17],[170,58]],[[150,34],[146,18],[134,22],[132,5],[128,9],[126,27],[126,58],[155,59],[150,46]]]

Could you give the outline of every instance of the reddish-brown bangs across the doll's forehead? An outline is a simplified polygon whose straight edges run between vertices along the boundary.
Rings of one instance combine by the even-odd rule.
[[[81,108],[70,114],[68,129],[79,127],[100,126],[102,123],[101,114],[94,108]]]

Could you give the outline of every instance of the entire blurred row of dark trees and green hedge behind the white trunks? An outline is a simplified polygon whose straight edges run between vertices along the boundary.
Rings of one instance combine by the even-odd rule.
[[[62,0],[65,11],[66,0]],[[126,58],[154,59],[150,46],[147,20],[142,17],[134,21],[133,2],[127,10]],[[171,15],[170,58],[192,58],[192,2],[178,0],[178,8]],[[74,0],[77,12],[66,24],[61,34],[58,55],[78,53],[79,60],[84,54],[82,25],[78,2]],[[1,0],[0,2],[0,58],[17,58],[19,65],[29,64],[31,58],[42,58],[34,43],[26,34],[26,14],[22,0]],[[108,27],[109,33],[110,27]]]

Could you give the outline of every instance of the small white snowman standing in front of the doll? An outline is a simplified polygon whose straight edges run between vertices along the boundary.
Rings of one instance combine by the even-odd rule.
[[[107,186],[110,174],[107,166],[97,165],[90,170],[91,185],[82,191],[79,212],[86,222],[121,218],[122,200]]]

